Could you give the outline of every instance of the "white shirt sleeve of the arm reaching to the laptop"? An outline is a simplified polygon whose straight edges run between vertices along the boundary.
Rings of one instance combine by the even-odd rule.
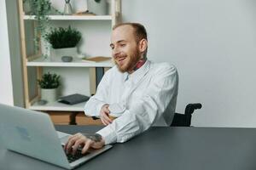
[[[165,65],[157,71],[143,97],[137,99],[122,116],[97,132],[105,139],[105,144],[123,143],[152,126],[166,111],[172,97],[177,97],[177,81],[174,66]]]

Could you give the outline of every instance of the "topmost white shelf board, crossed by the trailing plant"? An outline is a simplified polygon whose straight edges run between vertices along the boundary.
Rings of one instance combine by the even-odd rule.
[[[23,15],[23,20],[35,20],[35,15]],[[111,15],[49,15],[49,20],[112,20]]]

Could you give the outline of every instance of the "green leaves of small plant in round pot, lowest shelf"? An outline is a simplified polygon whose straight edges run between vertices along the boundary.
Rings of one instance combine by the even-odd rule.
[[[40,88],[58,88],[61,85],[59,79],[60,76],[47,72],[43,75],[41,80],[38,80],[38,84]]]

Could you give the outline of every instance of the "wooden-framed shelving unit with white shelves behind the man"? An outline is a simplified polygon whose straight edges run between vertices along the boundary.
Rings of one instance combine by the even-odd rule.
[[[61,2],[59,0],[51,0],[55,3],[55,7],[61,8]],[[37,26],[37,23],[34,23],[37,21],[37,15],[33,15],[32,13],[25,13],[23,8],[23,2],[22,0],[18,0],[18,7],[19,7],[19,18],[20,18],[20,48],[21,48],[21,54],[22,54],[22,76],[23,76],[23,83],[24,83],[24,98],[25,98],[25,106],[27,109],[36,110],[36,111],[57,111],[57,114],[60,114],[61,111],[83,111],[84,103],[78,104],[78,105],[65,105],[58,102],[48,103],[46,105],[38,105],[36,100],[39,97],[39,89],[38,86],[34,86],[34,83],[37,81],[37,79],[40,79],[43,76],[44,71],[46,70],[57,70],[65,74],[65,78],[67,78],[67,81],[65,80],[64,83],[67,82],[67,88],[63,89],[65,90],[63,94],[66,94],[69,90],[75,90],[72,87],[72,82],[68,81],[69,78],[72,78],[73,80],[77,81],[80,80],[82,71],[85,72],[85,76],[89,76],[89,82],[90,86],[86,88],[90,88],[88,91],[88,94],[96,94],[96,87],[98,85],[98,82],[100,81],[102,74],[104,74],[106,71],[108,71],[108,68],[111,68],[114,66],[114,62],[112,59],[109,59],[107,61],[102,62],[92,62],[92,61],[86,61],[80,59],[79,55],[76,54],[69,54],[70,56],[73,56],[72,62],[63,62],[61,60],[61,54],[55,54],[56,58],[53,56],[50,57],[50,59],[45,59],[41,55],[47,52],[47,43],[44,43],[42,41],[42,35],[40,35],[40,32],[34,32],[33,29]],[[72,15],[62,15],[62,14],[49,14],[48,19],[50,21],[50,24],[53,27],[66,27],[70,25],[70,22],[78,22],[75,26],[76,29],[81,31],[82,35],[88,33],[88,35],[91,36],[92,41],[95,40],[95,38],[98,38],[98,36],[102,35],[103,41],[105,38],[106,31],[111,32],[111,26],[115,26],[121,21],[121,0],[109,0],[109,8],[111,10],[108,10],[109,13],[106,15],[93,15],[93,14],[72,14]],[[79,4],[79,3],[78,3]],[[105,26],[105,24],[111,25],[111,26]],[[102,27],[102,24],[104,25]],[[88,31],[87,31],[88,28]],[[99,28],[99,29],[98,29]],[[95,30],[96,29],[96,30]],[[92,31],[90,31],[92,30]],[[30,35],[32,34],[32,35]],[[39,44],[40,48],[37,51],[36,55],[31,55],[32,52],[35,50],[35,47],[31,46],[33,37],[39,38]],[[108,37],[109,38],[109,37]],[[90,39],[88,39],[89,41]],[[42,42],[41,42],[42,41]],[[83,48],[90,48],[90,42],[84,43],[85,47]],[[99,47],[96,49],[91,49],[92,51],[96,51],[98,49],[102,48],[103,44],[99,44]],[[43,50],[45,49],[45,50]],[[92,52],[90,52],[93,54]],[[47,53],[50,54],[50,53]],[[31,56],[30,56],[31,55]],[[66,55],[66,54],[65,54]],[[104,54],[105,55],[105,54]],[[109,55],[109,54],[108,54]],[[48,68],[46,68],[48,67]],[[60,70],[60,69],[61,70]],[[66,69],[70,69],[69,72],[66,71]],[[82,69],[82,70],[81,70]],[[84,70],[85,69],[85,70]],[[65,70],[65,71],[64,71]],[[73,73],[78,71],[78,75],[75,75],[73,77]],[[59,73],[60,73],[59,72]],[[87,72],[89,74],[87,74]],[[66,74],[67,73],[67,74]],[[60,73],[61,75],[61,73]],[[82,75],[83,78],[83,75]],[[74,82],[75,82],[74,81]],[[84,80],[86,82],[86,80]],[[86,82],[87,83],[87,82]],[[83,84],[81,84],[83,86]],[[69,89],[72,88],[72,89]],[[36,97],[31,100],[31,96],[33,96],[32,92],[38,92]],[[78,92],[79,93],[79,92]],[[80,92],[81,93],[81,92]],[[59,115],[58,115],[59,116]]]

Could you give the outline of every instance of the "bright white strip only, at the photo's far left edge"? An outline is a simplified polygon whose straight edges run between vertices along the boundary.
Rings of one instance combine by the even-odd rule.
[[[0,103],[14,105],[5,0],[0,0]]]

